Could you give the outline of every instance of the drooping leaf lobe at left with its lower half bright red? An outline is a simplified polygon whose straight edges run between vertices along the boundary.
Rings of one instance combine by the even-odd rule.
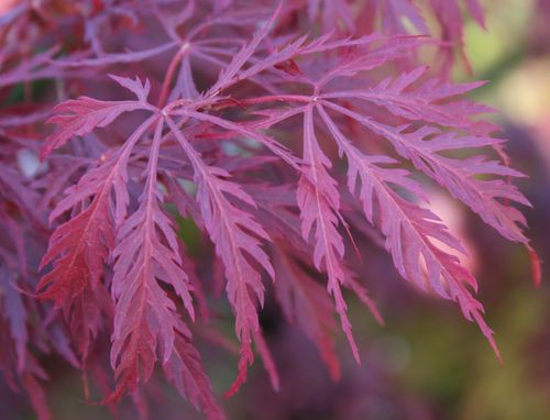
[[[59,224],[50,240],[41,268],[53,263],[37,289],[43,299],[57,306],[70,305],[86,285],[94,286],[103,273],[110,250],[114,246],[116,224],[124,219],[129,195],[125,187],[127,165],[132,146],[152,124],[150,118],[129,137],[127,146],[90,169],[52,211],[53,222],[68,210],[84,210]]]

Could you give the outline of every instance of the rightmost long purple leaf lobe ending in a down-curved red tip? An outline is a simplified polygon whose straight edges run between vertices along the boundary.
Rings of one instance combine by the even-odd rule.
[[[540,283],[538,258],[521,229],[521,225],[525,226],[527,222],[521,212],[509,206],[508,201],[525,206],[530,206],[530,203],[513,184],[502,179],[502,177],[524,175],[497,161],[487,161],[484,155],[477,154],[459,159],[440,154],[440,152],[461,148],[495,146],[503,140],[441,132],[433,126],[422,126],[410,131],[409,125],[397,128],[385,125],[337,103],[329,101],[323,103],[388,140],[399,155],[410,159],[416,168],[447,188],[451,196],[464,202],[485,223],[507,240],[522,243],[531,255],[535,283]],[[492,175],[496,178],[480,179],[480,175]]]

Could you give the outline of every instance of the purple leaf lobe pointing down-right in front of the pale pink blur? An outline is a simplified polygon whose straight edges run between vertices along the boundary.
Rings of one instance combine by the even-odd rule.
[[[420,186],[408,177],[405,169],[380,166],[395,164],[395,159],[388,156],[364,155],[342,134],[320,104],[317,110],[338,143],[340,153],[348,159],[348,186],[352,194],[356,194],[358,181],[361,180],[359,198],[363,203],[365,217],[371,223],[376,222],[386,236],[386,248],[392,254],[399,274],[424,290],[429,287],[439,296],[455,300],[464,317],[480,325],[495,354],[501,358],[493,340],[493,331],[483,320],[483,306],[468,290],[469,287],[477,290],[475,278],[460,264],[455,255],[442,251],[433,240],[458,252],[465,253],[464,247],[436,214],[406,201],[389,188],[388,184],[398,186],[416,197],[424,197]]]

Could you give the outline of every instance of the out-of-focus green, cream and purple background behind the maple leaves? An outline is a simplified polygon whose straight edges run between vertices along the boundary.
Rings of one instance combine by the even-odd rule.
[[[531,286],[524,247],[501,240],[448,197],[436,197],[435,203],[437,212],[462,232],[473,250],[470,264],[480,280],[480,300],[496,331],[504,365],[454,306],[411,290],[397,278],[382,250],[361,244],[363,261],[358,266],[362,267],[362,281],[386,323],[377,325],[362,306],[350,302],[362,365],[353,362],[339,336],[342,377],[332,383],[314,345],[282,321],[274,303],[267,303],[262,323],[280,373],[282,390],[276,394],[270,388],[257,362],[244,388],[224,402],[231,419],[550,419],[550,285],[544,265],[550,261],[550,0],[483,3],[486,30],[474,23],[466,26],[471,71],[458,65],[454,78],[490,80],[474,98],[502,111],[495,118],[509,139],[514,167],[529,175],[520,187],[534,205],[526,214],[529,236],[543,263],[542,286]],[[191,254],[199,255],[204,244],[193,223],[182,220],[180,228]],[[217,308],[212,322],[231,336],[227,303],[219,299],[212,307]],[[202,340],[201,353],[221,395],[234,375],[233,344],[211,345],[206,328],[201,335],[210,339]],[[78,373],[55,360],[48,371],[57,379],[48,388],[55,419],[109,417],[108,408],[84,404]],[[158,387],[166,385],[160,383]],[[25,407],[24,397],[18,398],[11,402]],[[200,418],[169,388],[147,398],[153,400],[152,418]],[[32,412],[20,413],[20,419],[33,418]],[[135,411],[128,404],[119,416],[132,419]]]

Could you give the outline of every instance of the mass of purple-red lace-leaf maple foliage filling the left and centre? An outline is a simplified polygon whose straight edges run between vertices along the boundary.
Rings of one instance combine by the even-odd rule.
[[[449,81],[464,63],[461,10],[483,25],[477,0],[425,7],[29,0],[2,10],[0,368],[42,419],[36,357],[50,352],[90,374],[106,404],[140,398],[160,366],[198,410],[223,418],[191,334],[211,331],[220,285],[240,342],[228,396],[254,352],[278,387],[258,321],[270,283],[338,379],[334,313],[360,361],[342,289],[382,322],[350,268],[362,254],[353,237],[373,229],[400,276],[458,302],[498,355],[465,250],[421,181],[524,244],[538,278],[510,206],[529,203],[482,119],[492,110],[463,98],[482,84]],[[439,34],[428,36],[422,13]],[[435,52],[431,68],[420,49]],[[186,251],[183,219],[212,245],[204,261]]]

